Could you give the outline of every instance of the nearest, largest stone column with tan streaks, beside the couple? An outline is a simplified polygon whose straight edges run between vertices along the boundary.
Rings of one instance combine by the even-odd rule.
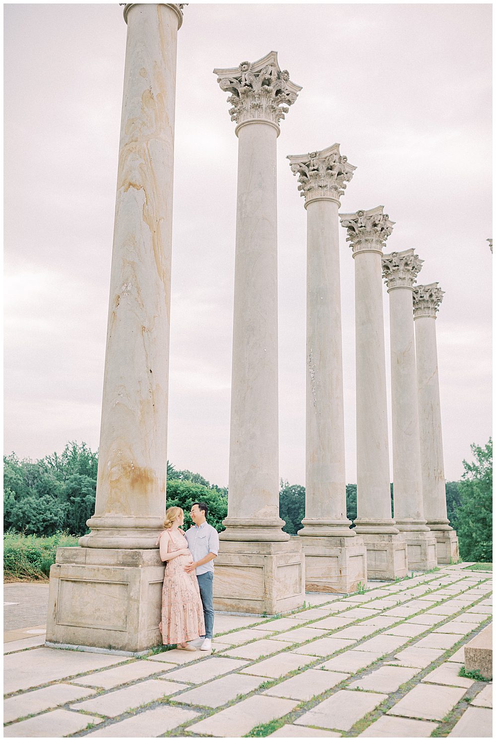
[[[47,640],[161,642],[178,4],[130,3],[95,514],[50,573]]]

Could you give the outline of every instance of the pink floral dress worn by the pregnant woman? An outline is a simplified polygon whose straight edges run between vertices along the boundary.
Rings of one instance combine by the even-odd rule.
[[[167,537],[167,553],[187,548],[187,539],[181,530],[165,530],[158,538]],[[189,553],[189,551],[188,551]],[[192,561],[188,556],[176,556],[166,561],[162,588],[162,619],[159,630],[164,645],[191,641],[205,635],[203,605],[195,571],[187,574],[184,566]]]

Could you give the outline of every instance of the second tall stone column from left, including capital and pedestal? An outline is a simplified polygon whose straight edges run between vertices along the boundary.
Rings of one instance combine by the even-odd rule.
[[[270,52],[215,69],[238,136],[229,500],[215,562],[219,609],[275,614],[301,605],[301,542],[282,531],[278,471],[276,139],[301,87]]]

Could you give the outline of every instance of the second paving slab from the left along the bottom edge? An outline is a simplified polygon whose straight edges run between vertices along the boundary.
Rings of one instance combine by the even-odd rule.
[[[145,710],[142,713],[134,715],[132,718],[113,723],[113,725],[106,725],[105,728],[92,731],[87,736],[101,738],[156,738],[197,716],[198,713],[195,711],[164,705],[161,708]]]

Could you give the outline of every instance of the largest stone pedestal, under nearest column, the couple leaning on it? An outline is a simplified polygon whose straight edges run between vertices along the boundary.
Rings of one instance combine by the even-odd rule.
[[[158,549],[58,548],[47,642],[137,653],[161,645]]]

